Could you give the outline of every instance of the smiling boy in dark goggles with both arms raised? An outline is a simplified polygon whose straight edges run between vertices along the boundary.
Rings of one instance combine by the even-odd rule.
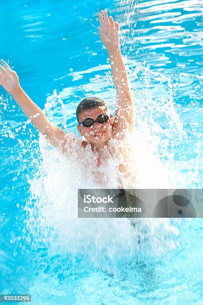
[[[115,118],[108,114],[106,103],[99,98],[87,98],[77,107],[78,131],[87,141],[82,141],[85,149],[91,144],[92,152],[98,153],[97,166],[102,160],[102,148],[108,146],[111,138],[121,139],[124,131],[132,132],[134,126],[134,104],[127,72],[123,63],[119,45],[119,24],[114,22],[112,16],[108,17],[104,11],[104,17],[99,14],[99,35],[106,46],[111,61],[113,81],[117,93],[117,109]],[[1,60],[0,85],[12,95],[27,118],[31,119],[35,128],[41,132],[50,144],[60,148],[64,153],[68,145],[73,144],[62,129],[49,122],[43,111],[27,96],[19,85],[19,79],[15,71],[12,71],[7,63]],[[77,136],[76,136],[77,137]]]

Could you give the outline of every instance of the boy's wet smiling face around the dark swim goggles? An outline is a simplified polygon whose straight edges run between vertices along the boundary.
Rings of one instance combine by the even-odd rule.
[[[100,114],[107,114],[108,111],[103,107],[91,109],[80,113],[80,122],[87,118],[96,120]],[[81,136],[84,136],[87,141],[92,144],[105,144],[109,141],[113,131],[113,115],[109,115],[109,120],[103,124],[95,122],[91,127],[77,125],[78,131]]]

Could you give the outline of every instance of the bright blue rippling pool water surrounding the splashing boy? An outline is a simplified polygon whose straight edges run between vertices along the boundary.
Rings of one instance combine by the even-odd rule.
[[[202,188],[202,4],[1,1],[0,57],[52,122],[65,128],[65,114],[68,130],[76,132],[75,110],[84,97],[103,97],[113,109],[115,90],[97,31],[98,12],[108,9],[121,24],[136,128],[148,126],[156,155],[171,169],[168,180]],[[60,165],[57,171],[57,160],[26,121],[0,88],[0,294],[30,294],[37,305],[203,304],[202,218],[149,219],[140,247],[141,232],[127,220],[63,216],[74,176],[66,179]]]

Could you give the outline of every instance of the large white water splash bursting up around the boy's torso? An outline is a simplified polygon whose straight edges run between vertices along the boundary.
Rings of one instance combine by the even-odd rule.
[[[97,77],[92,81],[98,81]],[[121,261],[130,262],[135,257],[141,261],[162,259],[179,245],[179,221],[171,224],[170,219],[142,219],[132,226],[127,218],[77,218],[77,189],[81,187],[118,188],[120,182],[125,188],[181,187],[175,152],[173,148],[168,152],[171,141],[181,139],[184,134],[174,107],[171,81],[140,65],[131,71],[131,84],[136,108],[135,130],[125,142],[110,140],[115,154],[105,152],[108,158],[100,167],[104,180],[95,178],[98,170],[95,155],[90,147],[85,151],[80,149],[81,138],[69,133],[72,145],[67,147],[67,155],[61,155],[40,135],[41,158],[35,163],[37,174],[29,179],[30,200],[25,207],[29,215],[25,239],[33,249],[48,249],[48,257],[65,257],[68,253],[116,274]],[[88,91],[88,86],[85,90]],[[165,100],[160,90],[165,92]],[[47,99],[45,111],[52,120],[62,116],[62,110],[59,114],[56,108],[58,101],[63,105],[56,91]],[[62,109],[65,111],[65,106]],[[116,170],[125,161],[124,151],[129,156],[127,174]]]

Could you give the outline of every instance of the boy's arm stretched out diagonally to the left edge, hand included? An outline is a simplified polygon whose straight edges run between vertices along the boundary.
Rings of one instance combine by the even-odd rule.
[[[0,85],[12,95],[13,99],[22,109],[34,127],[49,140],[51,145],[61,148],[67,143],[67,134],[58,126],[48,121],[44,112],[28,97],[20,87],[19,79],[15,71],[11,70],[4,60],[0,60]]]

